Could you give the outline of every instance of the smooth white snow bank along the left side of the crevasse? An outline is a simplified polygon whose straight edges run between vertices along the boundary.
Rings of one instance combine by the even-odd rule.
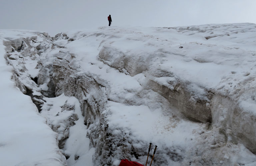
[[[11,80],[13,68],[7,66],[6,38],[37,36],[28,31],[0,31],[0,165],[63,166],[65,157],[56,140],[57,134],[39,116],[31,98]],[[30,61],[32,63],[32,61]]]

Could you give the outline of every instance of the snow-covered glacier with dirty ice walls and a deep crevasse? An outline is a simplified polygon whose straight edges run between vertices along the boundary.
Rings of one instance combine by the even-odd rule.
[[[256,165],[256,25],[0,30],[0,161]],[[152,152],[150,153],[150,160]]]

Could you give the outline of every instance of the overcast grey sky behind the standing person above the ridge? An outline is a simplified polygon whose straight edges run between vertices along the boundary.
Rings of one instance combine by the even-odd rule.
[[[0,29],[29,29],[51,36],[108,26],[176,27],[256,23],[256,0],[0,0]]]

